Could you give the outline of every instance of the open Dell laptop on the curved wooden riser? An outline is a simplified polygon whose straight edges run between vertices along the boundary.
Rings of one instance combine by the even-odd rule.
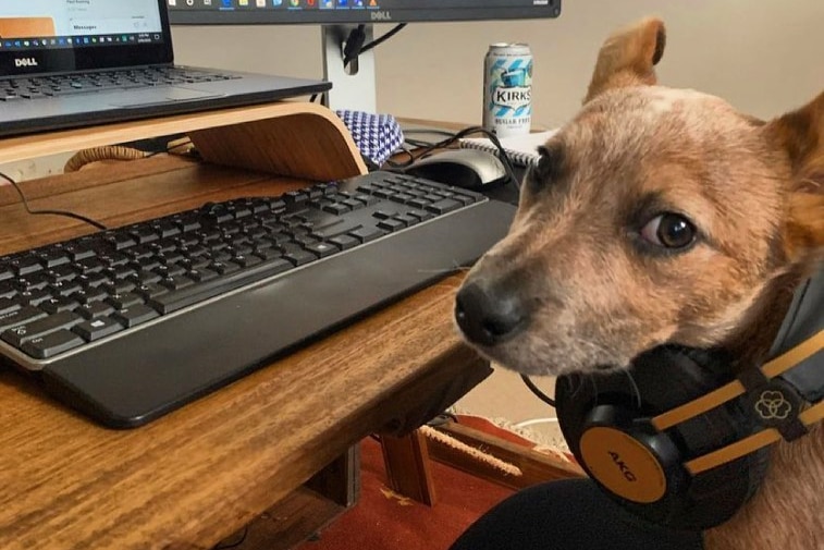
[[[165,0],[0,2],[0,136],[262,103],[331,87],[175,65]]]

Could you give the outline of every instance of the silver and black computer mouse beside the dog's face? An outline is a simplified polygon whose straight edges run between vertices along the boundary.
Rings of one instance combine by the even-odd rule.
[[[495,155],[478,149],[450,149],[422,158],[407,174],[466,190],[481,191],[507,180],[506,169]]]

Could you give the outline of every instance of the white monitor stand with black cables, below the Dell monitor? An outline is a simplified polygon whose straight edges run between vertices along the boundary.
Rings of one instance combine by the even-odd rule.
[[[333,111],[378,112],[374,80],[374,50],[358,56],[356,61],[343,66],[343,47],[352,29],[357,25],[323,25],[323,77],[332,83],[332,89],[324,95],[324,105]],[[372,25],[366,25],[364,44],[372,41]]]

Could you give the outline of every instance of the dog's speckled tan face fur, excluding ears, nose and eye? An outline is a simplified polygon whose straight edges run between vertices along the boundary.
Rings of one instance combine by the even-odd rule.
[[[786,173],[759,130],[694,91],[624,88],[588,103],[546,144],[509,235],[472,271],[516,278],[531,302],[527,330],[488,353],[558,374],[722,341],[775,267]],[[694,227],[692,244],[654,242],[666,212]]]

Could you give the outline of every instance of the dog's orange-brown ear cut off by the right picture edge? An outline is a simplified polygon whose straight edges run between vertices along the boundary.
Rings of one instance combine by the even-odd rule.
[[[764,131],[790,161],[787,256],[797,265],[824,258],[824,93]]]

